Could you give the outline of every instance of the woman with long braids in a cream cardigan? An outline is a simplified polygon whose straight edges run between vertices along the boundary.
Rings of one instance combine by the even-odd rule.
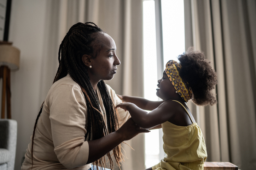
[[[141,132],[105,84],[120,65],[114,40],[94,23],[77,23],[59,48],[59,68],[36,118],[22,169],[91,169],[117,165],[121,146]],[[130,118],[130,119],[129,119]],[[120,127],[120,128],[119,128]],[[97,166],[98,169],[98,166]]]

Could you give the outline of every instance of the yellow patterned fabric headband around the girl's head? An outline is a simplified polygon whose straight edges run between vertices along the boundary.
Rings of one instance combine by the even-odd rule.
[[[194,95],[191,87],[188,85],[188,82],[182,79],[179,75],[179,71],[181,69],[180,63],[174,60],[170,60],[166,63],[165,67],[165,73],[169,77],[171,84],[173,84],[174,88],[177,90],[182,99],[186,102],[188,102],[190,99],[193,99]]]

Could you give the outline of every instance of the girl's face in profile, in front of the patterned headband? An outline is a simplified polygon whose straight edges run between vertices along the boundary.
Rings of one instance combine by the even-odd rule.
[[[171,84],[168,76],[166,75],[165,71],[163,72],[163,77],[157,81],[157,92],[156,95],[160,97],[162,100],[174,99],[179,95],[176,92],[176,89]],[[178,96],[179,97],[179,96]]]

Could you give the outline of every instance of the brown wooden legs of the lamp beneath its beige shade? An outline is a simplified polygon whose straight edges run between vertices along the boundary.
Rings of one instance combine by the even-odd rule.
[[[2,83],[2,108],[1,118],[5,118],[5,95],[7,99],[7,119],[11,119],[11,83],[10,83],[10,69],[2,65],[0,67],[0,79],[3,79]]]

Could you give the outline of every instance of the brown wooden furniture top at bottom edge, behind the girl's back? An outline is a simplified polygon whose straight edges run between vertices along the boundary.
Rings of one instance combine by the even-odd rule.
[[[205,162],[204,170],[238,170],[238,166],[230,162]]]

